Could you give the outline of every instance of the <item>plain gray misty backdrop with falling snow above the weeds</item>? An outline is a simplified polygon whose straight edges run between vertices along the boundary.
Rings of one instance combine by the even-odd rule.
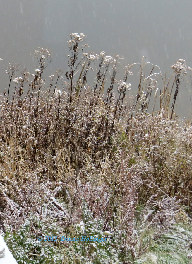
[[[8,63],[20,64],[35,73],[38,62],[33,54],[38,47],[52,51],[47,76],[56,69],[68,70],[69,34],[83,32],[88,51],[102,50],[124,57],[122,66],[140,62],[142,56],[157,64],[164,76],[172,76],[170,66],[186,59],[192,66],[192,1],[0,1],[0,90],[8,89],[5,69]],[[85,50],[86,51],[86,50]],[[136,75],[131,91],[138,89]],[[17,74],[20,76],[20,74]],[[47,77],[46,76],[46,77]],[[64,80],[65,74],[63,74]],[[121,79],[123,76],[121,76]],[[190,118],[191,77],[185,79],[177,98],[177,114]],[[47,83],[48,85],[49,83]],[[159,86],[162,84],[159,83]]]

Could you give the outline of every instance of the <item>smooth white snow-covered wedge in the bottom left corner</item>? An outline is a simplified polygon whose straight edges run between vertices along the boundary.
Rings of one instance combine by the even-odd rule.
[[[0,264],[17,264],[9,251],[3,237],[0,235]]]

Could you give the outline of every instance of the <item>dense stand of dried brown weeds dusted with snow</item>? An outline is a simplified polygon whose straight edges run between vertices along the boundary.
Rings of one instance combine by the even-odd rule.
[[[70,38],[64,77],[57,69],[44,79],[51,53],[43,48],[35,51],[32,74],[18,74],[12,64],[6,71],[8,94],[0,98],[0,229],[20,263],[142,262],[154,239],[191,217],[191,125],[179,126],[174,105],[169,119],[172,89],[167,79],[158,87],[157,76],[163,79],[158,67],[145,76],[143,62],[128,65],[118,79],[119,55],[87,51],[83,33]],[[179,63],[183,78],[190,68]],[[129,76],[136,65],[140,80],[132,101]],[[172,68],[179,74],[177,64]],[[178,88],[178,79],[174,83]],[[157,91],[154,116],[148,112]],[[113,235],[96,246],[37,241],[38,234],[52,232]]]

